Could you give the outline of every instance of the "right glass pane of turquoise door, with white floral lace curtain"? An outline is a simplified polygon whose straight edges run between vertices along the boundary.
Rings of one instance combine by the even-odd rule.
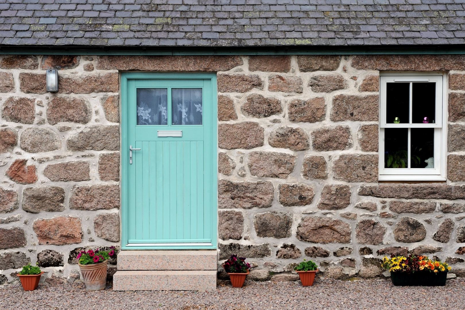
[[[202,125],[201,88],[173,88],[171,102],[173,125]]]

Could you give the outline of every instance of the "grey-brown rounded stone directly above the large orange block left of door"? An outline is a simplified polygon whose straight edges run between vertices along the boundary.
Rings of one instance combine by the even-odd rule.
[[[22,208],[26,212],[65,210],[65,190],[58,186],[27,187],[23,190]]]

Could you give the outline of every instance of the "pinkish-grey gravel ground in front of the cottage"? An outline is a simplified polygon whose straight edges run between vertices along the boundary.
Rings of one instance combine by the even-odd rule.
[[[445,287],[394,287],[390,280],[252,282],[242,289],[219,284],[214,292],[127,291],[111,288],[89,292],[84,284],[41,284],[25,292],[18,284],[0,287],[0,309],[464,309],[465,278]]]

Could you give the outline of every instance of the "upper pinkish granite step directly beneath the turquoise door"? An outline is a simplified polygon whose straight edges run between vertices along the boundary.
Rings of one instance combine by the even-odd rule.
[[[118,270],[216,270],[217,250],[123,250]]]

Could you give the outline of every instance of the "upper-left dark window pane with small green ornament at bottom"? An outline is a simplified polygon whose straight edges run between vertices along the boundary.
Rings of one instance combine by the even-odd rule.
[[[410,83],[386,83],[386,124],[409,122]]]

